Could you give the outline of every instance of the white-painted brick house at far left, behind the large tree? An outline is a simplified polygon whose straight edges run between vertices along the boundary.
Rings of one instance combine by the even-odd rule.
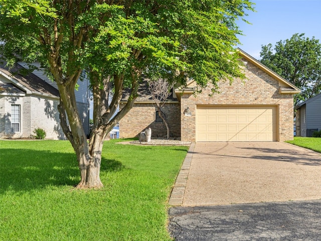
[[[11,71],[18,74],[13,75]],[[28,138],[36,128],[41,128],[46,131],[46,139],[65,139],[55,82],[41,71],[27,73],[21,64],[16,64],[11,71],[0,66],[0,138]],[[78,82],[77,106],[85,133],[89,135],[88,81]]]

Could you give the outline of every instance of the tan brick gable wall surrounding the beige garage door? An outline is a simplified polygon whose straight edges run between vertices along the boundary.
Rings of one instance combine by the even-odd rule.
[[[182,141],[196,141],[197,105],[274,105],[278,108],[278,141],[293,139],[293,95],[279,94],[279,83],[273,77],[248,62],[244,67],[246,79],[218,83],[220,93],[212,94],[209,84],[202,94],[184,93],[181,111],[190,108],[192,116],[181,114]]]

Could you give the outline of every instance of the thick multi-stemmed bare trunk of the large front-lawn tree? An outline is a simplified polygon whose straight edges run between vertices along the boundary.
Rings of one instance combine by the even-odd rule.
[[[57,83],[60,93],[58,109],[61,127],[76,152],[81,175],[77,188],[100,188],[103,186],[100,181],[100,166],[104,139],[112,127],[132,108],[137,97],[138,77],[132,79],[131,94],[126,105],[111,119],[121,99],[123,75],[114,76],[113,79],[115,91],[110,106],[106,106],[108,104],[106,90],[93,88],[94,130],[89,143],[79,117],[74,85]]]

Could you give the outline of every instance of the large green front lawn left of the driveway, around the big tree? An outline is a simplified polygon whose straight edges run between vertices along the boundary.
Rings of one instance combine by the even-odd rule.
[[[76,190],[68,141],[0,141],[0,240],[171,240],[167,199],[188,147],[104,144],[99,190]]]

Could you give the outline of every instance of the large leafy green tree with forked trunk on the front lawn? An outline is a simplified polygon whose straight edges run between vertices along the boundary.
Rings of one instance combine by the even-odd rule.
[[[102,186],[104,138],[133,106],[142,73],[183,84],[187,76],[203,87],[243,77],[235,22],[252,10],[248,0],[0,0],[0,8],[1,54],[8,63],[39,61],[58,85],[61,126],[81,173],[78,188]],[[94,99],[89,143],[75,100],[84,69]],[[128,102],[112,117],[125,87]]]

